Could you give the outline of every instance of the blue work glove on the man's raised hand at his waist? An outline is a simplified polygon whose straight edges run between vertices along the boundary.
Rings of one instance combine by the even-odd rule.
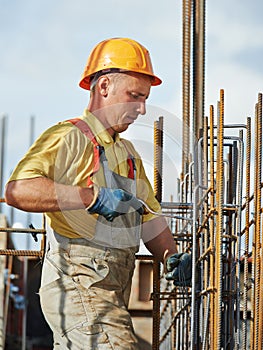
[[[108,221],[113,221],[117,216],[126,214],[130,207],[140,215],[144,212],[141,202],[131,193],[119,188],[100,187],[95,203],[87,210],[91,214],[99,214]]]

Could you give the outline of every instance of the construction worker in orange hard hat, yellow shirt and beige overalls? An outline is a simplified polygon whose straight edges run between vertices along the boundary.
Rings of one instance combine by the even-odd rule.
[[[146,113],[161,84],[149,52],[128,38],[100,42],[80,87],[90,90],[78,118],[46,130],[6,186],[9,205],[48,218],[40,303],[54,349],[138,349],[127,311],[140,239],[167,268],[191,279],[191,259],[177,254],[142,160],[120,133]]]

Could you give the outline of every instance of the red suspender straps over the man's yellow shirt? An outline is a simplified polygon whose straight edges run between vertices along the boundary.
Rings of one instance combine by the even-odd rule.
[[[98,144],[93,132],[91,131],[90,127],[88,126],[87,123],[84,122],[84,120],[79,119],[79,118],[73,118],[69,119],[68,122],[71,124],[75,125],[79,130],[87,136],[88,139],[93,143],[93,152],[94,152],[94,169],[93,173],[96,173],[99,170],[100,166],[100,145]],[[128,165],[129,165],[129,173],[128,173],[128,178],[134,179],[134,172],[135,172],[135,163],[134,163],[134,158],[129,155],[127,159]],[[92,181],[90,179],[90,176],[88,178],[88,186],[92,184]]]

